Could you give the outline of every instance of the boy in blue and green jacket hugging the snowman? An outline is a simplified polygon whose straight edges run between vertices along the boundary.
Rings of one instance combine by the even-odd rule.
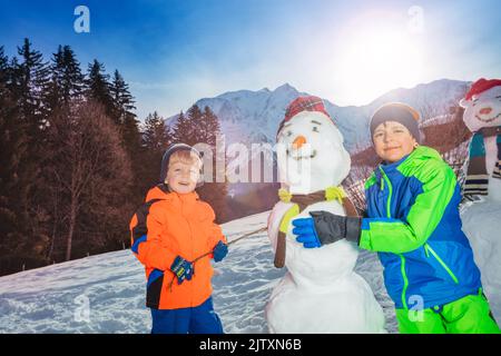
[[[366,218],[312,211],[293,221],[293,233],[307,248],[346,238],[377,251],[400,333],[499,334],[461,230],[455,175],[436,150],[419,145],[418,121],[403,103],[373,115],[371,136],[383,161],[365,184]]]

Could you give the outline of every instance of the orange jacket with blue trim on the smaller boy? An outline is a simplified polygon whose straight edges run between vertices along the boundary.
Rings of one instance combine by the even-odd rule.
[[[177,256],[188,261],[212,251],[223,231],[213,208],[198,195],[170,192],[165,185],[151,188],[130,220],[131,249],[145,266],[146,306],[155,309],[197,307],[212,294],[212,255],[194,265],[191,280],[178,285],[170,266]]]

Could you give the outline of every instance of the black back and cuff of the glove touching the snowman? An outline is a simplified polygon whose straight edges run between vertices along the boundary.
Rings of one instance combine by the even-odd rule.
[[[360,244],[362,218],[311,211],[315,230],[322,245],[333,244],[343,238]]]

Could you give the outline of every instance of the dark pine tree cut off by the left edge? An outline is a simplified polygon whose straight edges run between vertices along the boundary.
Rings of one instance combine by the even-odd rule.
[[[9,90],[8,62],[0,48],[0,275],[21,270],[22,266],[39,267],[48,243],[32,229],[29,122],[20,119],[19,107]]]

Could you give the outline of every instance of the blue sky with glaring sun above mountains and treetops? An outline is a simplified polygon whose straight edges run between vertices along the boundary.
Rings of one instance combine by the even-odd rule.
[[[90,33],[73,30],[80,4]],[[500,78],[500,26],[495,0],[0,0],[10,56],[24,37],[46,59],[70,44],[84,68],[97,58],[124,75],[140,119],[284,82],[346,106],[441,78]]]

